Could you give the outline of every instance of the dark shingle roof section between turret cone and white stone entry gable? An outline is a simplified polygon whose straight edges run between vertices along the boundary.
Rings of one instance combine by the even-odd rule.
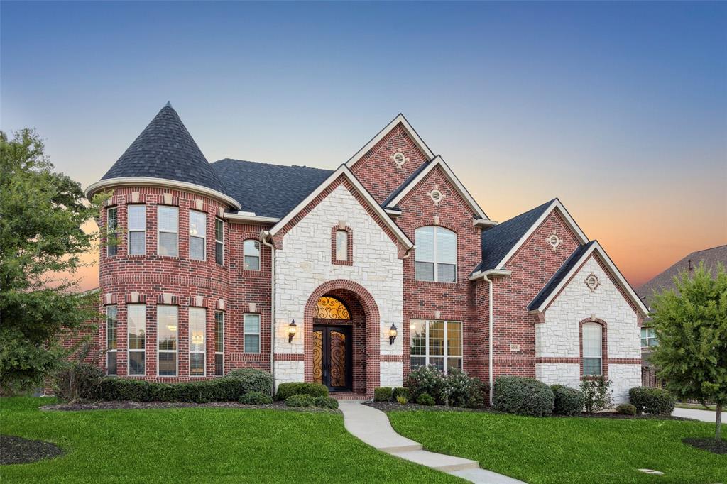
[[[260,217],[282,218],[303,201],[332,170],[308,166],[282,166],[255,161],[224,160],[210,164],[225,180],[227,194]]]

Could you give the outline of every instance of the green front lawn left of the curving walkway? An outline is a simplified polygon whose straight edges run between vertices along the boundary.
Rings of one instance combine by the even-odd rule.
[[[0,399],[0,432],[67,453],[0,467],[15,482],[462,483],[374,450],[333,413],[237,408],[41,412],[40,398]]]

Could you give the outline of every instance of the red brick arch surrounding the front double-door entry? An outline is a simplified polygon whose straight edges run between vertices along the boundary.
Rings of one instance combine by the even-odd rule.
[[[367,395],[379,386],[381,361],[379,308],[369,291],[358,283],[337,279],[321,284],[310,294],[303,315],[305,381],[313,382],[313,323],[318,299],[331,296],[339,299],[351,312],[353,324],[353,390]]]

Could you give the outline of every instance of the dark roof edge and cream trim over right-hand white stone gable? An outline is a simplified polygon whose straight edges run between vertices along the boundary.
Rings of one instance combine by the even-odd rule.
[[[601,247],[601,244],[598,243],[598,241],[591,241],[578,247],[573,254],[571,254],[571,257],[566,259],[566,262],[563,262],[563,265],[560,269],[558,269],[558,271],[556,271],[553,278],[550,278],[550,281],[548,281],[545,287],[537,294],[530,304],[528,304],[528,310],[530,312],[544,311],[548,304],[550,304],[550,302],[558,296],[561,289],[563,289],[563,287],[577,273],[582,262],[585,262],[585,260],[593,254],[593,252],[597,253],[598,256],[601,257],[603,264],[608,267],[608,271],[611,275],[613,275],[616,283],[621,286],[626,297],[630,299],[630,302],[632,302],[635,307],[638,308],[641,315],[646,317],[648,315],[647,307],[643,304],[643,301],[638,294],[636,294],[636,291],[634,291],[628,281],[626,281],[626,278],[624,278],[624,275],[616,267],[614,261],[611,260],[611,257],[608,257],[608,254],[606,254],[606,251],[603,250],[603,247]],[[556,278],[557,281],[555,280]]]

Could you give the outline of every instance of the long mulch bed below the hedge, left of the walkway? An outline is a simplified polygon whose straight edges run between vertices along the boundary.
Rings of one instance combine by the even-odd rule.
[[[237,402],[186,403],[186,402],[76,402],[57,403],[42,406],[45,411],[82,411],[82,410],[148,410],[153,408],[260,408],[262,410],[286,410],[298,412],[340,412],[332,408],[289,407],[284,402],[273,402],[269,405],[243,405]]]

